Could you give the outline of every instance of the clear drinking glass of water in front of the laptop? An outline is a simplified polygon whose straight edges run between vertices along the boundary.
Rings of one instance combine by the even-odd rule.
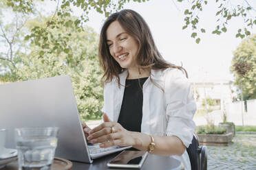
[[[51,169],[57,146],[58,127],[29,127],[15,130],[19,170]]]

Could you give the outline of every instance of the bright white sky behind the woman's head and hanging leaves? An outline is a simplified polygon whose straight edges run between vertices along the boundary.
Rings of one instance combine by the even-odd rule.
[[[234,4],[235,1],[232,0]],[[238,2],[241,3],[242,0]],[[255,0],[248,2],[256,9]],[[211,34],[217,21],[216,8],[215,2],[209,1],[200,14],[200,27],[206,29],[206,34],[200,34],[201,42],[196,44],[195,39],[191,38],[191,29],[182,30],[184,4],[174,0],[150,0],[125,5],[125,9],[135,10],[148,23],[164,59],[174,64],[182,64],[192,80],[233,80],[229,68],[233,51],[241,42],[241,38],[235,38],[235,34],[244,23],[242,19],[233,19],[227,27],[228,32],[220,36]],[[104,19],[103,15],[91,12],[87,25],[99,33]],[[256,27],[250,31],[256,34]]]

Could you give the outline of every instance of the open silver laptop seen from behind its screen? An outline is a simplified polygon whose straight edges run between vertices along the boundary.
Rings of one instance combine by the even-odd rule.
[[[69,76],[0,85],[0,128],[8,130],[6,147],[15,148],[17,127],[49,126],[59,127],[55,156],[61,158],[92,163],[129,148],[87,145]]]

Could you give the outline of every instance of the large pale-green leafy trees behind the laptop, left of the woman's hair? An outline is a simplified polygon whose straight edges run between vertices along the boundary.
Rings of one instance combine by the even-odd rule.
[[[67,17],[66,20],[72,21],[75,18]],[[32,23],[36,24],[35,21]],[[36,27],[40,29],[40,23]],[[100,85],[101,71],[97,57],[98,36],[89,27],[80,32],[75,27],[73,25],[67,29],[56,25],[48,34],[48,48],[36,46],[36,41],[44,40],[32,38],[35,43],[31,44],[30,55],[21,57],[22,64],[17,75],[21,80],[70,75],[81,117],[100,117],[103,89]],[[65,49],[57,48],[58,45],[65,46]]]

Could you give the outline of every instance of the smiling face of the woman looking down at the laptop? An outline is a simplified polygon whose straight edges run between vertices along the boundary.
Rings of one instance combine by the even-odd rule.
[[[124,69],[136,69],[138,42],[122,29],[118,21],[109,25],[106,31],[107,45],[111,56]]]

